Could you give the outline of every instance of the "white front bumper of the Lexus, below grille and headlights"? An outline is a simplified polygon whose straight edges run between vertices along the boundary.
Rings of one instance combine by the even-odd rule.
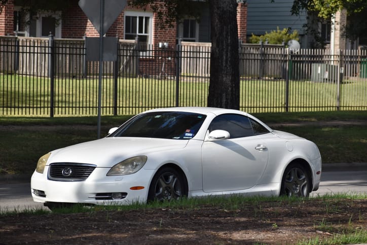
[[[108,170],[109,168],[97,167],[84,181],[52,181],[47,178],[48,166],[46,166],[43,173],[34,171],[32,174],[30,186],[33,201],[96,205],[146,202],[154,170],[140,169],[134,174],[125,176],[106,176]],[[140,188],[131,190],[132,187]]]

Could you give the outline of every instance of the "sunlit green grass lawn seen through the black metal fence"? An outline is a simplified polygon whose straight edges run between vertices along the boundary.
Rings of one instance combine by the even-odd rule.
[[[51,85],[48,78],[0,75],[0,115],[50,114]],[[117,79],[118,115],[133,115],[152,108],[206,106],[208,78],[183,77],[176,84],[170,78],[119,77]],[[57,116],[96,115],[98,79],[88,77],[55,79],[54,113]],[[102,115],[114,113],[115,81],[103,78]],[[342,110],[367,108],[367,82],[346,81],[340,86]],[[333,111],[338,107],[338,86],[335,83],[290,81],[289,112]],[[285,81],[246,78],[240,82],[240,108],[249,113],[284,112]]]

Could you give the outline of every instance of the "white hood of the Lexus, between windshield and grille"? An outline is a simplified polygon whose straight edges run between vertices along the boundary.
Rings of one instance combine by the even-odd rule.
[[[146,155],[152,151],[180,149],[187,143],[188,140],[178,139],[106,137],[55,150],[51,153],[47,164],[74,162],[112,167],[130,157]]]

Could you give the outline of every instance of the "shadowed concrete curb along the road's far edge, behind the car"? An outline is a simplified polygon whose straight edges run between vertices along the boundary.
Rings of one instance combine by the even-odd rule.
[[[323,163],[322,171],[367,171],[367,162],[353,163]],[[0,183],[29,183],[31,174],[5,174],[0,175]]]

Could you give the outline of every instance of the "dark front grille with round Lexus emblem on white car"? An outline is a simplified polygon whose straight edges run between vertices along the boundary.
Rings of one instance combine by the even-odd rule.
[[[53,181],[84,181],[93,172],[96,165],[84,163],[51,163],[48,178]]]

